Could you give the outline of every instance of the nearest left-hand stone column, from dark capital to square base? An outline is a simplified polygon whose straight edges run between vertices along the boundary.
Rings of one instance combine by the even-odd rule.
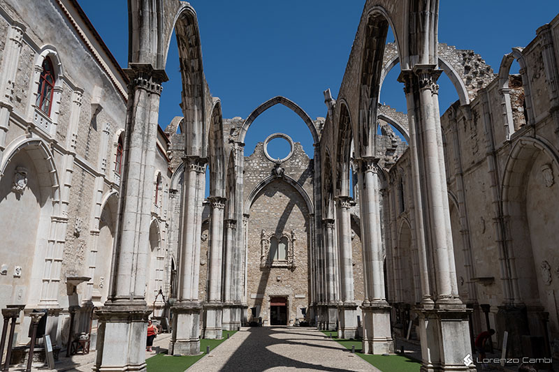
[[[130,64],[124,174],[108,300],[97,311],[96,371],[146,371],[145,267],[150,247],[152,174],[164,70]]]

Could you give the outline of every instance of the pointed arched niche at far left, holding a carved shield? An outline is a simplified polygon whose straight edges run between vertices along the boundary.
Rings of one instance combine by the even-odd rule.
[[[16,174],[17,187],[13,184]],[[28,281],[29,292],[22,301],[30,305],[58,305],[66,235],[61,239],[54,237],[59,236],[56,235],[59,231],[66,231],[68,221],[61,216],[59,176],[49,145],[38,137],[21,136],[13,140],[0,163],[0,186],[0,219],[6,222],[4,228],[8,230],[4,240],[10,244],[10,232],[17,232],[20,236],[11,235],[14,240],[11,244],[16,255],[20,251],[26,255],[16,260],[26,263],[13,262],[22,265]],[[15,210],[25,211],[26,215],[14,213]],[[10,223],[15,225],[10,227]],[[25,230],[17,228],[18,224],[30,229],[29,236]],[[6,260],[7,257],[8,254]]]

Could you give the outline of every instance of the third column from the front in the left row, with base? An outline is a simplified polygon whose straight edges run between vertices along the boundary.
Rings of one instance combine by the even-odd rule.
[[[222,338],[222,266],[223,266],[223,215],[224,198],[209,198],[210,258],[208,265],[208,302],[204,304],[204,338]]]

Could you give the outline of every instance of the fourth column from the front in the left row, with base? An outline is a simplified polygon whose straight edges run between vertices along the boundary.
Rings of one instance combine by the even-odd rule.
[[[224,310],[223,310],[223,329],[232,331],[235,328],[235,306],[233,306],[233,245],[235,244],[235,230],[237,228],[237,221],[227,219],[224,222],[225,226],[225,275],[224,275]]]

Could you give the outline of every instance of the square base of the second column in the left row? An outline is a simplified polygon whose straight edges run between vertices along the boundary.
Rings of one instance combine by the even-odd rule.
[[[177,302],[173,308],[173,334],[169,343],[169,355],[200,355],[199,302]]]

